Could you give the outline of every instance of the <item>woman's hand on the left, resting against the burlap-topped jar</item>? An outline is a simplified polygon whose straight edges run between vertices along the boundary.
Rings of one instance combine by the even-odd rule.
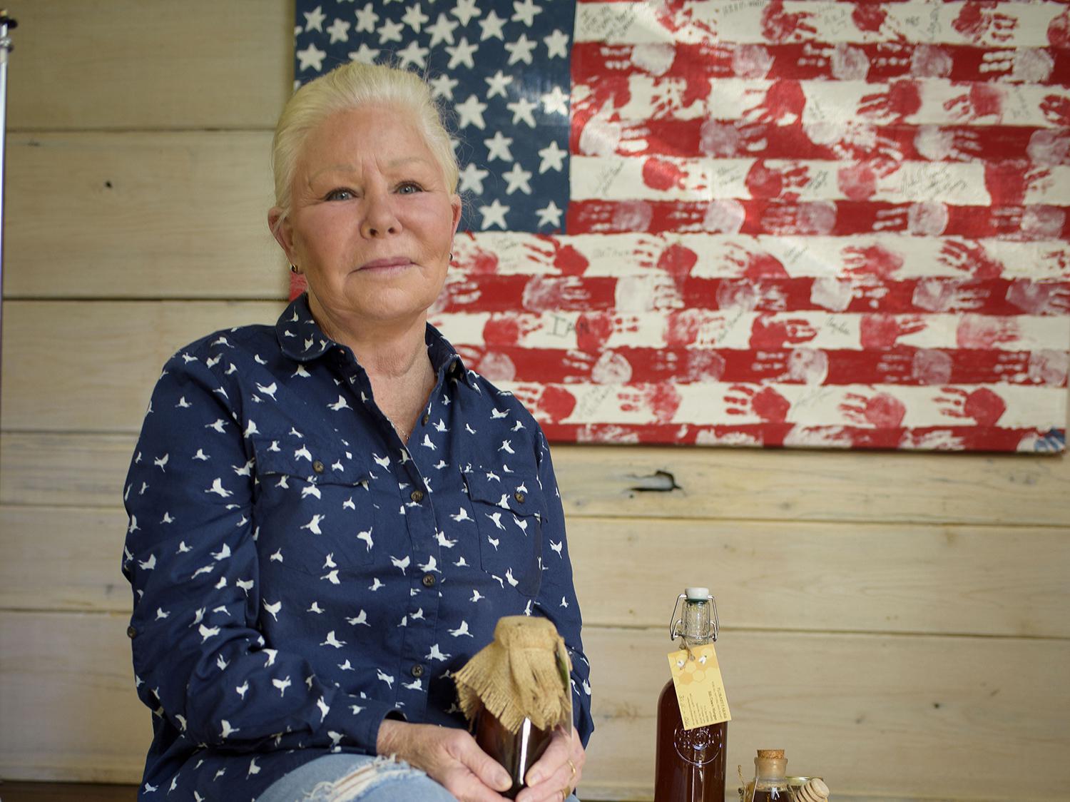
[[[460,802],[501,802],[505,798],[498,791],[513,784],[508,772],[463,729],[387,718],[379,726],[376,752],[422,769]]]

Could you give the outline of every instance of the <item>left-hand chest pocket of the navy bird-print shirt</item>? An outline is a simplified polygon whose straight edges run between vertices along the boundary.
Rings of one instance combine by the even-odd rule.
[[[341,442],[292,436],[255,439],[254,451],[261,562],[274,559],[321,577],[373,561],[376,521],[385,520],[383,505],[396,506],[397,499],[380,498],[360,455]]]

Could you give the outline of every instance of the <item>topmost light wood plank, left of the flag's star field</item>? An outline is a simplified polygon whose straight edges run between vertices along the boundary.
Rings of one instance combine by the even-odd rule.
[[[12,0],[11,130],[270,128],[292,84],[287,0]]]

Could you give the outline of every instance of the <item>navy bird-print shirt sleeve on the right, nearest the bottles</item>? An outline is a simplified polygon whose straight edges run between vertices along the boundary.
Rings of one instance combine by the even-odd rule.
[[[594,720],[591,717],[591,663],[583,653],[583,622],[572,584],[572,564],[565,536],[565,511],[553,473],[550,448],[541,429],[537,430],[535,449],[539,484],[547,501],[547,519],[542,521],[542,581],[535,600],[535,609],[550,619],[565,639],[572,662],[572,724],[585,747],[594,731]]]

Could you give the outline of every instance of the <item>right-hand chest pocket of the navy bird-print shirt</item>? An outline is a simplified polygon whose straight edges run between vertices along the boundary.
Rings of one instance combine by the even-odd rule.
[[[534,473],[472,468],[463,473],[479,530],[483,570],[525,596],[541,581],[542,519],[546,505]]]

